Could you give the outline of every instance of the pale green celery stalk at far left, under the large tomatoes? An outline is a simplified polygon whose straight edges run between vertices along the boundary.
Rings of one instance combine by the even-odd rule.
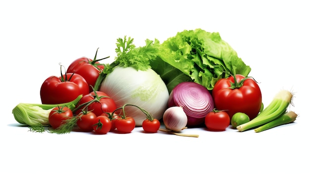
[[[82,95],[79,95],[75,100],[62,104],[20,103],[12,110],[12,114],[15,120],[21,124],[27,124],[28,126],[49,125],[49,115],[53,108],[66,106],[73,110],[82,97]]]

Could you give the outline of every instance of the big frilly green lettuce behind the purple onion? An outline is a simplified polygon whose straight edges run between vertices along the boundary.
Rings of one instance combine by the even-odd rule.
[[[170,72],[166,81],[167,83],[174,81],[173,85],[182,80],[189,81],[184,76],[180,77],[180,74],[184,73],[192,81],[212,90],[220,78],[235,74],[248,76],[251,71],[250,66],[246,65],[236,51],[221,39],[219,33],[210,33],[202,29],[184,30],[168,38],[160,44],[158,57],[151,61],[152,68],[161,77]],[[172,67],[160,62],[160,59],[182,73],[174,72]],[[167,67],[169,68],[165,70]]]

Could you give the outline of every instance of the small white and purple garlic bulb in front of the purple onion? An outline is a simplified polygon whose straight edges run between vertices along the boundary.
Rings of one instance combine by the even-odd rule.
[[[163,123],[167,130],[180,131],[185,128],[187,124],[187,116],[182,107],[170,107],[162,116]]]

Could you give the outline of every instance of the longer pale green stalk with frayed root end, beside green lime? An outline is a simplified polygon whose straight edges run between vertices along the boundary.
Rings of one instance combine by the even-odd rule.
[[[287,107],[291,104],[292,98],[293,94],[290,91],[281,90],[258,116],[249,122],[237,126],[237,129],[239,131],[245,131],[278,118],[286,112]]]

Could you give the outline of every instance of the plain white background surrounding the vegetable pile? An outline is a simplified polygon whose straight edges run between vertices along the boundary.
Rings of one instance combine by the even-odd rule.
[[[0,173],[310,172],[309,3],[302,0],[10,0],[0,2]],[[219,32],[252,67],[267,105],[294,93],[297,120],[264,132],[187,129],[199,138],[145,134],[33,133],[18,124],[18,103],[40,103],[40,87],[76,58],[115,57],[125,35],[142,46],[185,29]],[[108,61],[111,61],[108,60]],[[103,61],[105,62],[105,61]],[[6,172],[4,172],[6,171]]]

